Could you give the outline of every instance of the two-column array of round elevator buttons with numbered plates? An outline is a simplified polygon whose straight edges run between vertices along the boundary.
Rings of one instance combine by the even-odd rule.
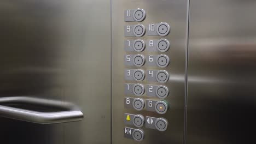
[[[147,136],[143,129],[164,133],[168,129],[164,114],[171,109],[170,101],[166,100],[170,90],[165,85],[169,80],[167,67],[171,63],[166,53],[170,42],[165,37],[170,33],[170,25],[162,21],[140,23],[147,19],[146,15],[147,10],[141,8],[124,11],[124,79],[129,81],[124,83],[124,107],[137,111],[124,113],[124,137],[135,141]],[[152,39],[143,39],[144,35]],[[159,117],[150,113],[142,115],[142,111]]]

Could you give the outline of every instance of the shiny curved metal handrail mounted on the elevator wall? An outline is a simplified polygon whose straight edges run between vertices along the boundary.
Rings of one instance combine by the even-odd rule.
[[[33,109],[27,109],[29,105],[41,105],[44,109],[63,109],[58,112],[41,112]],[[16,108],[19,105],[24,105],[25,108]],[[53,124],[82,121],[83,113],[78,110],[73,110],[74,105],[71,103],[61,103],[57,100],[46,100],[30,97],[5,97],[0,98],[0,116],[18,119],[20,121]]]

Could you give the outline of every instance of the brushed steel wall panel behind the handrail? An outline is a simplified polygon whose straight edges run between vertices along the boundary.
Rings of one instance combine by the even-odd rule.
[[[81,122],[0,118],[1,143],[110,143],[110,1],[0,2],[0,97],[68,101]]]

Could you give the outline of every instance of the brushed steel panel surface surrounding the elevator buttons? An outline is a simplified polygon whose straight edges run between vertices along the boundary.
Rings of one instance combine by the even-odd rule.
[[[142,129],[145,132],[145,138],[139,143],[183,143],[184,133],[184,98],[185,98],[185,50],[187,38],[187,0],[172,0],[172,1],[120,1],[112,0],[112,142],[117,143],[137,143],[135,140],[124,138],[123,121],[124,113],[138,114],[152,117],[165,117],[169,125],[168,130],[160,132],[158,130],[147,129],[144,126]],[[124,97],[135,97],[133,95],[124,94],[124,83],[131,81],[124,80],[124,39],[136,39],[135,37],[124,37],[124,26],[135,25],[138,22],[124,22],[124,10],[142,8],[146,11],[146,19],[142,22],[147,26],[149,23],[167,22],[171,26],[171,32],[166,37],[170,40],[171,47],[166,52],[170,57],[170,65],[166,69],[170,74],[170,81],[167,86],[170,88],[169,97],[166,99],[170,102],[170,110],[165,115],[160,115],[156,112],[135,111],[124,109]],[[141,39],[160,39],[162,37],[143,36]],[[129,52],[130,54],[138,52]],[[147,55],[149,52],[141,52]],[[153,52],[160,54],[158,52]],[[129,67],[136,69],[136,67]],[[142,69],[161,69],[158,67],[146,67]],[[132,81],[132,83],[137,83]],[[139,82],[141,83],[141,82]],[[159,85],[157,82],[147,82]],[[156,99],[150,97],[142,97],[144,99]],[[132,127],[135,128],[135,127]]]

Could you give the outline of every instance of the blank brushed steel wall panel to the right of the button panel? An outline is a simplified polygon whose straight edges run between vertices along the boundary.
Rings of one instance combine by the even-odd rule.
[[[255,141],[255,8],[190,1],[187,144]]]

